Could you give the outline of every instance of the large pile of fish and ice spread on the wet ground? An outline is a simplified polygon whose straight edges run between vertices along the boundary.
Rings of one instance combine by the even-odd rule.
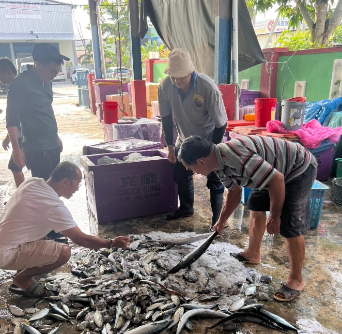
[[[222,318],[217,325],[231,328],[236,327],[231,321],[254,321],[281,331],[297,331],[284,319],[261,310],[262,304],[255,304],[256,289],[262,284],[251,283],[254,275],[235,259],[237,280],[227,277],[223,283],[219,269],[212,268],[216,261],[221,263],[218,253],[226,256],[227,244],[210,246],[204,260],[201,257],[190,267],[170,273],[182,263],[182,253],[194,249],[182,245],[200,239],[203,235],[160,241],[140,235],[125,250],[82,249],[72,256],[70,273],[44,279],[56,294],[43,301],[48,307],[10,306],[12,314],[20,317],[12,319],[14,334],[66,333],[67,326],[81,334],[179,334],[184,328],[191,330],[190,318],[199,316]],[[69,323],[62,325],[63,331],[62,322]]]

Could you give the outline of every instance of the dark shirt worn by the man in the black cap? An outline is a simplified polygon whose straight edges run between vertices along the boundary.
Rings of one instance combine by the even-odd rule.
[[[8,87],[6,127],[13,126],[21,127],[24,152],[60,145],[52,109],[52,83],[43,83],[31,70],[16,76]]]

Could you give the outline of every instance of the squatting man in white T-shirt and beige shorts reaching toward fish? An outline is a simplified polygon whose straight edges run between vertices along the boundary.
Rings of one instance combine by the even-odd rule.
[[[30,178],[8,200],[0,213],[0,268],[17,271],[11,292],[32,298],[47,296],[49,291],[34,276],[61,267],[71,255],[69,245],[43,239],[52,228],[87,248],[125,248],[130,242],[125,236],[97,238],[78,228],[59,197],[72,197],[81,180],[81,170],[64,161],[47,182]]]

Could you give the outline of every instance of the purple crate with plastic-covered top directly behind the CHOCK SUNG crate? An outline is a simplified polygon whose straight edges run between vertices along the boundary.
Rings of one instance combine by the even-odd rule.
[[[94,145],[83,146],[83,155],[102,154],[102,153],[118,153],[130,151],[142,151],[151,149],[162,149],[162,143],[155,143],[154,141],[125,138],[118,140],[105,141]]]

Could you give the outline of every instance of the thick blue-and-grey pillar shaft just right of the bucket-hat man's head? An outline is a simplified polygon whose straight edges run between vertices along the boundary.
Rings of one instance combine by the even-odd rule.
[[[232,0],[216,0],[214,65],[216,84],[231,82],[232,30]]]

